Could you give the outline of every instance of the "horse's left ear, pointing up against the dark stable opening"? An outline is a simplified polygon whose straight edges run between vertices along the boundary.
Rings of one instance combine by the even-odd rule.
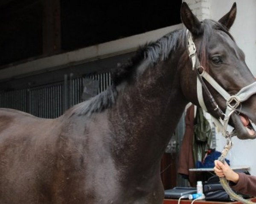
[[[188,28],[192,34],[198,35],[198,34],[202,33],[203,29],[202,29],[200,21],[192,13],[192,11],[190,10],[190,8],[186,2],[183,2],[181,4],[180,15],[181,15],[182,22],[184,23],[186,28]]]

